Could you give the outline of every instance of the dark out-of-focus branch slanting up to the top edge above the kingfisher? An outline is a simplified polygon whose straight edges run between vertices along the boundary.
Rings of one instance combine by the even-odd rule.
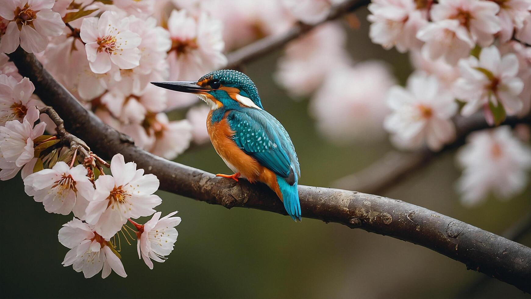
[[[369,0],[348,0],[337,6],[333,6],[330,9],[328,16],[321,21],[311,24],[298,22],[282,35],[268,36],[258,41],[255,41],[250,45],[247,45],[228,54],[228,64],[226,66],[226,69],[237,69],[239,66],[247,62],[250,62],[267,53],[271,53],[273,50],[282,48],[288,42],[304,35],[304,33],[310,31],[312,28],[328,21],[336,20],[340,16],[349,12],[353,12],[357,8],[363,7],[369,3]]]

